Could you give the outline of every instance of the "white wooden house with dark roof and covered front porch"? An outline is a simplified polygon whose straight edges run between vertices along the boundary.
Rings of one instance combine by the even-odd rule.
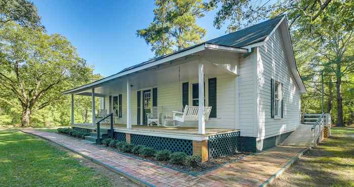
[[[100,109],[116,113],[116,136],[129,143],[152,142],[156,149],[187,150],[207,160],[227,152],[220,144],[254,152],[279,144],[300,124],[300,95],[305,92],[286,17],[279,16],[63,94],[100,97]],[[146,126],[153,106],[163,121],[166,113],[182,112],[185,105],[201,104],[200,113],[202,103],[212,107],[208,120],[199,115],[179,127]],[[78,124],[72,113],[71,125],[95,130],[93,116],[93,124]],[[171,141],[174,147],[166,145]]]

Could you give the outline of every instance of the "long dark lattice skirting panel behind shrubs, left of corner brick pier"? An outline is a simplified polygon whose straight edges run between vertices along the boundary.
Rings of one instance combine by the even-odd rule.
[[[142,134],[130,134],[130,142],[134,145],[144,145],[155,150],[169,150],[173,152],[185,152],[193,154],[192,141],[189,139],[177,139],[170,137],[158,137]]]

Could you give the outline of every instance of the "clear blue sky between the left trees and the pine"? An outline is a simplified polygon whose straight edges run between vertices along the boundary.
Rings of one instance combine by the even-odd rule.
[[[77,48],[95,73],[108,76],[154,56],[136,30],[153,20],[154,1],[34,0],[49,34],[59,33]],[[225,34],[212,26],[216,10],[198,20],[204,40]]]

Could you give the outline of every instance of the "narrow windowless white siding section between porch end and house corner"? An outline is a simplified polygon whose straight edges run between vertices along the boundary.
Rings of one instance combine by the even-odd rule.
[[[241,136],[255,136],[256,53],[239,58],[239,129]]]

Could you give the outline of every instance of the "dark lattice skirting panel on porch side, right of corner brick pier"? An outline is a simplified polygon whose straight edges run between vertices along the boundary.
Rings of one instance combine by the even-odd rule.
[[[242,151],[243,141],[240,131],[209,136],[208,148],[209,160]]]

